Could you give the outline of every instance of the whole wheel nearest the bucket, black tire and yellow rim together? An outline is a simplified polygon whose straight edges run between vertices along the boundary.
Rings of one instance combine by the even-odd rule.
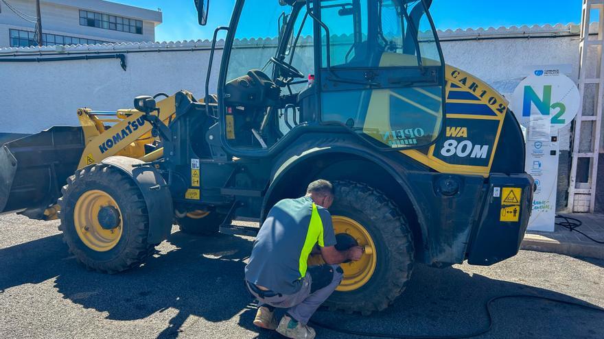
[[[106,243],[103,236],[108,235],[107,230],[95,226],[95,223],[100,223],[98,211],[86,210],[86,206],[106,205],[95,201],[86,203],[91,192],[101,196],[105,194],[117,205],[113,208],[119,214],[119,225],[108,230],[111,234],[119,231],[119,237],[113,242]],[[102,273],[118,273],[139,266],[154,251],[154,244],[147,241],[149,216],[143,194],[135,181],[118,168],[95,164],[78,170],[67,179],[62,194],[58,201],[59,229],[69,251],[84,266]],[[83,226],[83,223],[91,225]],[[91,236],[93,232],[100,236]]]

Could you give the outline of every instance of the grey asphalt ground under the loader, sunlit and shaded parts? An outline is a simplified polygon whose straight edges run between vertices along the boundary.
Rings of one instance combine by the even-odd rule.
[[[146,264],[103,275],[78,265],[58,221],[0,216],[0,338],[280,338],[253,325],[243,285],[252,239],[185,236],[174,227]],[[604,260],[521,251],[493,266],[417,265],[402,297],[363,317],[321,310],[347,329],[452,336],[488,326],[485,303],[529,294],[604,307]],[[604,338],[604,313],[503,299],[479,338]],[[354,338],[318,329],[318,338]]]

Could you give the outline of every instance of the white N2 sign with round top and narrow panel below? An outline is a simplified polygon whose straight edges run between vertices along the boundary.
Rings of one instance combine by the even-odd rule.
[[[533,69],[514,91],[511,109],[526,127],[526,173],[535,179],[529,229],[554,231],[558,184],[558,131],[579,111],[579,89],[560,66]]]

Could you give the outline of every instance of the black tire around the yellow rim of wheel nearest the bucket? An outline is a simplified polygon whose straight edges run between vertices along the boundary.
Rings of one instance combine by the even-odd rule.
[[[115,200],[121,211],[122,235],[113,249],[99,252],[90,249],[80,240],[73,212],[75,203],[89,190],[102,190]],[[147,242],[149,234],[149,216],[143,194],[135,181],[119,169],[106,164],[95,164],[67,179],[62,188],[59,230],[63,240],[75,259],[94,271],[119,273],[139,266],[153,253],[154,244]]]

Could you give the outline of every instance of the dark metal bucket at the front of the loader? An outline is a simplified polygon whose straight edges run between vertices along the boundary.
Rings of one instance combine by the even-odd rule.
[[[84,150],[82,127],[52,127],[0,147],[0,214],[44,220]]]

